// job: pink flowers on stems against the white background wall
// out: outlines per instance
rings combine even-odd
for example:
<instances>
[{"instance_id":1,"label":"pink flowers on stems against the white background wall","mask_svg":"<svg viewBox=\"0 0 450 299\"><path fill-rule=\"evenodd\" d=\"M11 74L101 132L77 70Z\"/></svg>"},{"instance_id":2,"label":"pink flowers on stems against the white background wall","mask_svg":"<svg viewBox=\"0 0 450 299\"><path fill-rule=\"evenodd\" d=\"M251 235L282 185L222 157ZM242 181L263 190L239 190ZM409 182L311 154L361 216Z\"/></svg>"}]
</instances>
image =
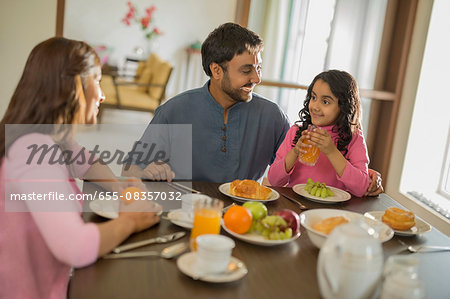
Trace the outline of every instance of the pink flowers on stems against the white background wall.
<instances>
[{"instance_id":1,"label":"pink flowers on stems against the white background wall","mask_svg":"<svg viewBox=\"0 0 450 299\"><path fill-rule=\"evenodd\" d=\"M153 14L156 7L151 5L145 9L144 14L140 14L133 3L127 2L127 6L128 11L121 22L126 26L131 26L133 23L139 25L146 40L147 54L149 54L154 50L156 38L163 34L154 24Z\"/></svg>"}]
</instances>

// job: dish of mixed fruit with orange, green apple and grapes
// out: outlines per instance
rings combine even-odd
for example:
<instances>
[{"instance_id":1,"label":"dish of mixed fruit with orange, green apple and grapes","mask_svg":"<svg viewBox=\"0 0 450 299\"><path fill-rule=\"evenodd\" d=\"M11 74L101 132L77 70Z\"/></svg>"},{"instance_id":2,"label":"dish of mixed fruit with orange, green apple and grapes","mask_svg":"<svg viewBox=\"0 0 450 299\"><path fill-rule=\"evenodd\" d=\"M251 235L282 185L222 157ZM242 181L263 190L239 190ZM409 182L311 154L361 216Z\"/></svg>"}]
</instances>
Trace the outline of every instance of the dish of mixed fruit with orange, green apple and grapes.
<instances>
[{"instance_id":1,"label":"dish of mixed fruit with orange, green apple and grapes","mask_svg":"<svg viewBox=\"0 0 450 299\"><path fill-rule=\"evenodd\" d=\"M291 210L268 215L261 202L246 202L229 208L222 222L223 229L244 242L262 246L289 243L300 236L300 219Z\"/></svg>"}]
</instances>

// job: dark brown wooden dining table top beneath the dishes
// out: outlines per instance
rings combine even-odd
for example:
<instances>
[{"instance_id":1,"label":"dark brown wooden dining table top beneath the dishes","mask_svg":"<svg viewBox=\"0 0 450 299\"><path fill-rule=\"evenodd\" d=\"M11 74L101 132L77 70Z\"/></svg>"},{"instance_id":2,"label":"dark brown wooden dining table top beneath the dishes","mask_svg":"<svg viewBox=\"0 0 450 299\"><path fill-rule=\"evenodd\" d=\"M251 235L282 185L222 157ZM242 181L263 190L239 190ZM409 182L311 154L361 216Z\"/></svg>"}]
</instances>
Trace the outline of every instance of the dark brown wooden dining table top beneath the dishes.
<instances>
[{"instance_id":1,"label":"dark brown wooden dining table top beneath the dishes","mask_svg":"<svg viewBox=\"0 0 450 299\"><path fill-rule=\"evenodd\" d=\"M242 204L222 193L219 183L194 181L189 184L202 194L223 200L225 206ZM347 201L329 204L311 201L289 187L271 188L280 196L265 204L269 214L281 209L290 209L301 215L306 210L320 208L361 214L384 211L388 207L404 208L385 193L376 197L352 196ZM84 182L84 193L96 190L101 188L92 182ZM189 242L189 229L167 220L163 217L166 213L164 211L159 224L133 234L124 244L178 231L185 231L186 235L174 244ZM89 209L83 212L83 219L94 223L108 220ZM233 238L223 228L220 233ZM321 298L317 278L319 248L310 241L303 226L300 233L300 237L292 242L277 246L261 246L233 238L235 248L232 256L245 264L248 273L238 280L222 283L194 280L183 274L177 267L177 257L99 258L95 263L73 271L68 298ZM171 243L152 244L135 251L161 251L169 245ZM450 251L410 253L406 250L407 245L450 246L450 238L431 227L423 234L396 234L382 243L384 261L397 254L414 255L419 260L419 278L424 283L426 298L450 298Z\"/></svg>"}]
</instances>

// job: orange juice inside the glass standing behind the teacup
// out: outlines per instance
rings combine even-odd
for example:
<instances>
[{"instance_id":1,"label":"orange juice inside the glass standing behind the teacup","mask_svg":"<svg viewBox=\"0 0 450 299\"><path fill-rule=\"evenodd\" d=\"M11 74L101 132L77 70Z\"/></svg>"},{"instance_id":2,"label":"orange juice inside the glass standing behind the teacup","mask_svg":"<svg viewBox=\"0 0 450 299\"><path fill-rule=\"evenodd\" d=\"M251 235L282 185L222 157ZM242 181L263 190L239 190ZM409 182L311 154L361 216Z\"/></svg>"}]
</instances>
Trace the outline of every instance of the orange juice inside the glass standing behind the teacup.
<instances>
[{"instance_id":1,"label":"orange juice inside the glass standing behind the teacup","mask_svg":"<svg viewBox=\"0 0 450 299\"><path fill-rule=\"evenodd\" d=\"M197 250L195 238L204 234L220 233L220 212L210 209L199 209L194 213L194 226L191 231L191 250Z\"/></svg>"}]
</instances>

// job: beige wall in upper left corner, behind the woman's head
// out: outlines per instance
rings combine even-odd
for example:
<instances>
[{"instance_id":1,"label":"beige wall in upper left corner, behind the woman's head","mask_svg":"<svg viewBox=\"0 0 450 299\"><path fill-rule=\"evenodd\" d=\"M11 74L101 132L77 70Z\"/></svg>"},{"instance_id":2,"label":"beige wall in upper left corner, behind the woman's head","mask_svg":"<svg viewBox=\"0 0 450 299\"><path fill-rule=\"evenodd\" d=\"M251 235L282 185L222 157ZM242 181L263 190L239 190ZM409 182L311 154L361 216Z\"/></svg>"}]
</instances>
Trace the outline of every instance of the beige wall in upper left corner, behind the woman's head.
<instances>
[{"instance_id":1,"label":"beige wall in upper left corner, behind the woman's head","mask_svg":"<svg viewBox=\"0 0 450 299\"><path fill-rule=\"evenodd\" d=\"M0 117L31 49L55 35L56 0L0 1Z\"/></svg>"}]
</instances>

